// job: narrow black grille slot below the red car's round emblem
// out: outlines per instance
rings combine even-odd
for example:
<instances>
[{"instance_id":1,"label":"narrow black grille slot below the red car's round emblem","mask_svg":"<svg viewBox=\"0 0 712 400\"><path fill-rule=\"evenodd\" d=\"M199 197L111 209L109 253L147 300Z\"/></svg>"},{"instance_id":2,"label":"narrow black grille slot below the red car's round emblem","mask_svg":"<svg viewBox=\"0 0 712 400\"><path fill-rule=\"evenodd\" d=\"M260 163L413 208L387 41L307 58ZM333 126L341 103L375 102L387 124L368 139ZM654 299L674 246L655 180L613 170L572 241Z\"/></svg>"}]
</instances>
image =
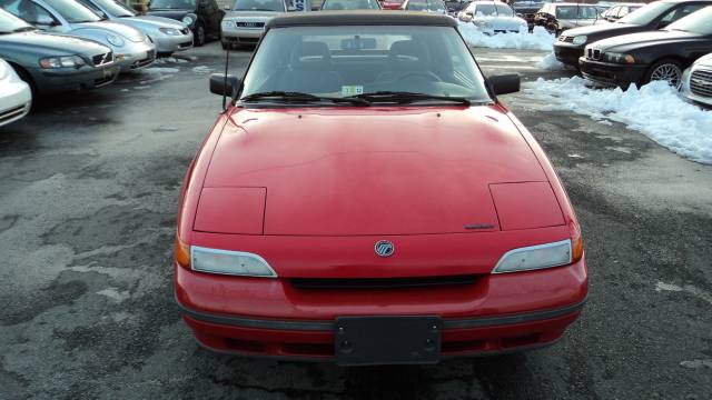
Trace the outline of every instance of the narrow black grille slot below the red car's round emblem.
<instances>
[{"instance_id":1,"label":"narrow black grille slot below the red car's round emblem","mask_svg":"<svg viewBox=\"0 0 712 400\"><path fill-rule=\"evenodd\" d=\"M296 278L291 279L291 286L303 290L383 290L474 284L477 278L476 274L413 278Z\"/></svg>"}]
</instances>

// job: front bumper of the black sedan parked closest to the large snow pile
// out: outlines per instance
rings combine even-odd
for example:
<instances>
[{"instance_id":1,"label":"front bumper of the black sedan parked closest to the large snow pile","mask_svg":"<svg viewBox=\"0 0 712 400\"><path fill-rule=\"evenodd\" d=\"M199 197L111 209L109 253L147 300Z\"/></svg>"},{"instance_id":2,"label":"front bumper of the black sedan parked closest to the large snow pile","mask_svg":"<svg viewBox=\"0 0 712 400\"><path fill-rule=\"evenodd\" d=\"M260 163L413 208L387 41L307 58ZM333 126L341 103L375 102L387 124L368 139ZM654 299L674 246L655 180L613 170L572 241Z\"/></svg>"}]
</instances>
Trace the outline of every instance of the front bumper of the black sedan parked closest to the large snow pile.
<instances>
[{"instance_id":1,"label":"front bumper of the black sedan parked closest to the large snow pile","mask_svg":"<svg viewBox=\"0 0 712 400\"><path fill-rule=\"evenodd\" d=\"M578 63L581 74L589 81L597 86L623 89L627 89L631 84L640 86L647 70L647 66L593 61L585 57L581 57Z\"/></svg>"}]
</instances>

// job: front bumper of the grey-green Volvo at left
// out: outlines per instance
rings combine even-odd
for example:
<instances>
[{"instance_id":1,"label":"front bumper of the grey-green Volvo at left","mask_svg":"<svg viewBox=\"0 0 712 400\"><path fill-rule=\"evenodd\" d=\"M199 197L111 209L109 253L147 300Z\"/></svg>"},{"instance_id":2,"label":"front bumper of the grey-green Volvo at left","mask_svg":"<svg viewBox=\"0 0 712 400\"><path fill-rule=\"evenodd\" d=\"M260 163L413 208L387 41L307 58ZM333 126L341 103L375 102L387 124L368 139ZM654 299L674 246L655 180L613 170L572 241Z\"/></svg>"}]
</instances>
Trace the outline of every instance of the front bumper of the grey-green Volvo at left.
<instances>
[{"instance_id":1,"label":"front bumper of the grey-green Volvo at left","mask_svg":"<svg viewBox=\"0 0 712 400\"><path fill-rule=\"evenodd\" d=\"M116 63L105 67L81 69L36 70L32 76L41 94L81 91L101 88L112 83L119 76Z\"/></svg>"}]
</instances>

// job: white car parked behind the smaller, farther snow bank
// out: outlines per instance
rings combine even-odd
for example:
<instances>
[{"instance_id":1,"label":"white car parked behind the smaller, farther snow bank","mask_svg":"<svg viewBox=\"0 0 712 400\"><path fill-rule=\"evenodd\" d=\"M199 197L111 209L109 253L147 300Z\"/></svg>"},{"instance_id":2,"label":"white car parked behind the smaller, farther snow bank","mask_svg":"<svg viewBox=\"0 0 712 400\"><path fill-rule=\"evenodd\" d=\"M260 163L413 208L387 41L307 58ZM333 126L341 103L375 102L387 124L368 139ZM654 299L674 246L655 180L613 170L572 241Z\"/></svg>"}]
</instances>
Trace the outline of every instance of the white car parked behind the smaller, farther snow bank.
<instances>
[{"instance_id":1,"label":"white car parked behind the smaller, farther snow bank","mask_svg":"<svg viewBox=\"0 0 712 400\"><path fill-rule=\"evenodd\" d=\"M473 1L457 18L463 22L474 23L478 30L488 34L528 31L526 20L500 1Z\"/></svg>"}]
</instances>

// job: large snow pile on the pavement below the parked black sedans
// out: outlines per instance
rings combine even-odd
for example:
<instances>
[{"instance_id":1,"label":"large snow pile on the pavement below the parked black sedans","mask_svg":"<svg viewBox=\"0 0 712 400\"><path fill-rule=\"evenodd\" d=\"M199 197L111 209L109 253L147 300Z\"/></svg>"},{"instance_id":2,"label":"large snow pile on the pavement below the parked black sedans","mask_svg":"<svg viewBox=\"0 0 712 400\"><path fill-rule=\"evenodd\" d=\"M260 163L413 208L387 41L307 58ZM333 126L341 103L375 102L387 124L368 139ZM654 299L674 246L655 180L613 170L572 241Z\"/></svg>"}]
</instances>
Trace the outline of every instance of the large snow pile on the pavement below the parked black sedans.
<instances>
[{"instance_id":1,"label":"large snow pile on the pavement below the parked black sedans","mask_svg":"<svg viewBox=\"0 0 712 400\"><path fill-rule=\"evenodd\" d=\"M617 121L693 161L712 164L712 111L685 102L666 82L641 89L592 89L580 77L525 83L544 110L568 109L599 121ZM607 122L607 121L606 121Z\"/></svg>"}]
</instances>

